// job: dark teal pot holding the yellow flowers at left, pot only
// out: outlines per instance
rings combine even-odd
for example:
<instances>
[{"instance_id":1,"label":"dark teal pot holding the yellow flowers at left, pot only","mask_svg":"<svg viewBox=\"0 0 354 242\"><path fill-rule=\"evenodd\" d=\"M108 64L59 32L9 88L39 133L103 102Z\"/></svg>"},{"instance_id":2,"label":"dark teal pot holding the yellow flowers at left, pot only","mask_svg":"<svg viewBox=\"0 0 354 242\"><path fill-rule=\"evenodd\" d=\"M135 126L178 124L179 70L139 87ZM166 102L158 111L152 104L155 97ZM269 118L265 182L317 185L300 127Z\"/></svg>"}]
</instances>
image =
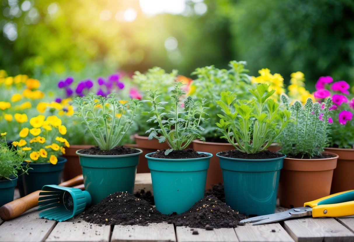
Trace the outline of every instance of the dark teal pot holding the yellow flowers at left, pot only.
<instances>
[{"instance_id":1,"label":"dark teal pot holding the yellow flowers at left, pot only","mask_svg":"<svg viewBox=\"0 0 354 242\"><path fill-rule=\"evenodd\" d=\"M65 162L67 162L66 158L58 157L58 162L55 165L51 163L29 163L29 167L33 168L33 170L28 170L28 175L23 174L18 177L20 196L41 190L45 185L58 185L61 183Z\"/></svg>"}]
</instances>

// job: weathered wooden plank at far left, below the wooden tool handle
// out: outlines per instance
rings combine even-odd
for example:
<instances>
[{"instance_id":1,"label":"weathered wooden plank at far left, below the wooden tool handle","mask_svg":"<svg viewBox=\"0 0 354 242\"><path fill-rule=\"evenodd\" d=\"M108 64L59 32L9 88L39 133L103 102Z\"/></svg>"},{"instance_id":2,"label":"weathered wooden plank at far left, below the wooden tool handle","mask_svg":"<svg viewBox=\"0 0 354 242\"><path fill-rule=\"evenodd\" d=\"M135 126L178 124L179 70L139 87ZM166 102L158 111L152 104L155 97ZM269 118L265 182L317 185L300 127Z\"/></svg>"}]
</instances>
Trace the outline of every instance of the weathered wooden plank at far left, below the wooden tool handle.
<instances>
[{"instance_id":1,"label":"weathered wooden plank at far left, below the wooden tool handle","mask_svg":"<svg viewBox=\"0 0 354 242\"><path fill-rule=\"evenodd\" d=\"M56 221L38 217L37 207L21 216L5 221L0 226L1 242L44 241L53 230Z\"/></svg>"}]
</instances>

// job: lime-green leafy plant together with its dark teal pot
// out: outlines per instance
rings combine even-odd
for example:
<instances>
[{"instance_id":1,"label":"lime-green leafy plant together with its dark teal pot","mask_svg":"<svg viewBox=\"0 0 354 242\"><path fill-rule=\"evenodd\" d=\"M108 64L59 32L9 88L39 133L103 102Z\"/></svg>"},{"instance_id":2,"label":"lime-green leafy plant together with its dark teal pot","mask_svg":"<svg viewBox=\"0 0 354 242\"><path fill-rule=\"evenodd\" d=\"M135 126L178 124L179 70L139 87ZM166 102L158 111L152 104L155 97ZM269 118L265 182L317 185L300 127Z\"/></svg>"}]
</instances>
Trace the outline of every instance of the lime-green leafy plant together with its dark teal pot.
<instances>
[{"instance_id":1,"label":"lime-green leafy plant together with its dark teal pot","mask_svg":"<svg viewBox=\"0 0 354 242\"><path fill-rule=\"evenodd\" d=\"M234 92L222 92L217 101L223 114L216 123L226 139L235 148L222 151L219 157L222 169L225 201L241 213L274 213L278 190L282 153L267 148L290 122L290 112L270 98L274 90L267 84L256 84L249 89L251 100L236 99Z\"/></svg>"}]
</instances>

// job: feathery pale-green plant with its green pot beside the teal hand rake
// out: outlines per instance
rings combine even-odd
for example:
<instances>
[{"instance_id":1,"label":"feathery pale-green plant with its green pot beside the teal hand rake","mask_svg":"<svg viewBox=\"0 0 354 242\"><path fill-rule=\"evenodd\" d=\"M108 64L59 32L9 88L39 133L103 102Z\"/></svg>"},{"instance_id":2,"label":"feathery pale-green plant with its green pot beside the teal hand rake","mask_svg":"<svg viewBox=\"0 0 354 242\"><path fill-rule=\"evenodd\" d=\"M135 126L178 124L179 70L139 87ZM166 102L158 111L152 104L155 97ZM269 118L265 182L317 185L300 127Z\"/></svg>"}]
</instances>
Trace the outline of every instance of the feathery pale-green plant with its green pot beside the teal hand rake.
<instances>
[{"instance_id":1,"label":"feathery pale-green plant with its green pot beside the teal hand rake","mask_svg":"<svg viewBox=\"0 0 354 242\"><path fill-rule=\"evenodd\" d=\"M138 100L118 100L90 93L74 98L78 117L98 146L76 151L79 156L85 190L97 204L115 192L132 193L142 150L121 145L132 126Z\"/></svg>"}]
</instances>

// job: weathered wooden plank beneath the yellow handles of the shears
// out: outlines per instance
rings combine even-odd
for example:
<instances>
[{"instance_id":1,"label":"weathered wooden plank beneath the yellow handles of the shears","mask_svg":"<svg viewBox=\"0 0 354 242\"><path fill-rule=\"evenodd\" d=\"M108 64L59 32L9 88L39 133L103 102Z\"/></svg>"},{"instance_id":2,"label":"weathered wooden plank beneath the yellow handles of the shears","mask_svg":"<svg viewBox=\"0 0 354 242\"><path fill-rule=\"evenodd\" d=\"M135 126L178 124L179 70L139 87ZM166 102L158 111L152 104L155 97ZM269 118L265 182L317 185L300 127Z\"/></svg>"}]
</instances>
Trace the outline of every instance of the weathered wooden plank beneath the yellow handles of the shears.
<instances>
[{"instance_id":1,"label":"weathered wooden plank beneath the yellow handles of the shears","mask_svg":"<svg viewBox=\"0 0 354 242\"><path fill-rule=\"evenodd\" d=\"M284 221L295 241L354 241L354 233L334 218L297 218Z\"/></svg>"}]
</instances>

